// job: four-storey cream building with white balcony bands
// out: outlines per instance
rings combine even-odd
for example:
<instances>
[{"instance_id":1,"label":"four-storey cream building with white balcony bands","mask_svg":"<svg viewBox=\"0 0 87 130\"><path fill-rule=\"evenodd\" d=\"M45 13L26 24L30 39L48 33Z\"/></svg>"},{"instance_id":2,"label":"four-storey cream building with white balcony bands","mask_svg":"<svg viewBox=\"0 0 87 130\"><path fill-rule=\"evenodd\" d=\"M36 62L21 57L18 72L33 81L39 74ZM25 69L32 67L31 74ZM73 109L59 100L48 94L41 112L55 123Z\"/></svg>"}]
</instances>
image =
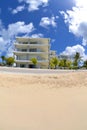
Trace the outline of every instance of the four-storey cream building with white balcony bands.
<instances>
[{"instance_id":1,"label":"four-storey cream building with white balcony bands","mask_svg":"<svg viewBox=\"0 0 87 130\"><path fill-rule=\"evenodd\" d=\"M52 53L50 53L50 39L17 37L14 46L17 67L33 68L34 65L31 59L36 58L37 68L49 68L50 54L52 56Z\"/></svg>"}]
</instances>

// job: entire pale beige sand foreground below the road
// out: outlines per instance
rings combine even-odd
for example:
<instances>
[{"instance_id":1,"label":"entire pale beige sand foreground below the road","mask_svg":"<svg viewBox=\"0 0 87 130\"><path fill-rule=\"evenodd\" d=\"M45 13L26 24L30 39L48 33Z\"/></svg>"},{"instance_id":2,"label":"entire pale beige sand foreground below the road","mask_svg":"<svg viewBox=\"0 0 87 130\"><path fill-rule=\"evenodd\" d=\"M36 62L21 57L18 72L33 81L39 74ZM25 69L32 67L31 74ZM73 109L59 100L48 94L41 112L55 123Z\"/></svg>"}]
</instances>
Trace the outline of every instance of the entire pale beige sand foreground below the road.
<instances>
[{"instance_id":1,"label":"entire pale beige sand foreground below the road","mask_svg":"<svg viewBox=\"0 0 87 130\"><path fill-rule=\"evenodd\" d=\"M0 74L0 130L87 130L87 72Z\"/></svg>"}]
</instances>

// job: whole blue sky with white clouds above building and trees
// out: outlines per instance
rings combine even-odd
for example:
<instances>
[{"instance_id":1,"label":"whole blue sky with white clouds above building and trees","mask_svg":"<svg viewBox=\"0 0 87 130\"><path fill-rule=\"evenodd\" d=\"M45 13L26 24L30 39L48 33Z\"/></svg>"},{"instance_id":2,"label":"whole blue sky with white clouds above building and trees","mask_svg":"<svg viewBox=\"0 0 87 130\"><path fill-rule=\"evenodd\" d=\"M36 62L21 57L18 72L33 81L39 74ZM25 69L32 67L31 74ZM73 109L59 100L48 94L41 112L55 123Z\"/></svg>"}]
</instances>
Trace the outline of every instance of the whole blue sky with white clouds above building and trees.
<instances>
[{"instance_id":1,"label":"whole blue sky with white clouds above building and trees","mask_svg":"<svg viewBox=\"0 0 87 130\"><path fill-rule=\"evenodd\" d=\"M15 38L50 38L57 54L87 59L86 0L1 0L0 56L12 56Z\"/></svg>"}]
</instances>

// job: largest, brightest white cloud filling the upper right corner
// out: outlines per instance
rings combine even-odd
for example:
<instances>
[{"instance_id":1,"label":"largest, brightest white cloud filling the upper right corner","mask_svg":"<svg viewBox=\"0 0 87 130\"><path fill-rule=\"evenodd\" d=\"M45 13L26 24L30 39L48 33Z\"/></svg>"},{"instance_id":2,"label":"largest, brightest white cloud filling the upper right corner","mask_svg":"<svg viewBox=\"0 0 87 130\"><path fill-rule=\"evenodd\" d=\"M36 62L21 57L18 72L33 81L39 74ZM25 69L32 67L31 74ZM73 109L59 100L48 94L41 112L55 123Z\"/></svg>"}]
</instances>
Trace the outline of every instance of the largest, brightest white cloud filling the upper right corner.
<instances>
[{"instance_id":1,"label":"largest, brightest white cloud filling the upper right corner","mask_svg":"<svg viewBox=\"0 0 87 130\"><path fill-rule=\"evenodd\" d=\"M83 45L87 45L87 1L75 0L75 7L66 12L61 11L69 31L78 37L82 37Z\"/></svg>"}]
</instances>

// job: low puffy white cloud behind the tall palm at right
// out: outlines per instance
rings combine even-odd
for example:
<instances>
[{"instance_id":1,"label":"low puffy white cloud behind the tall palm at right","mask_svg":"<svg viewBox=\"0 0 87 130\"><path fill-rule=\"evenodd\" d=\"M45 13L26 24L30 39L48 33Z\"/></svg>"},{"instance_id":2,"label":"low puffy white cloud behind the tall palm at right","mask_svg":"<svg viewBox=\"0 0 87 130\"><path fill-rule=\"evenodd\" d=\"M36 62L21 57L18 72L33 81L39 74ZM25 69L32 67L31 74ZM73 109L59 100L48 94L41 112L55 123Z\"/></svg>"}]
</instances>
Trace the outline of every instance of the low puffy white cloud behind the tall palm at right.
<instances>
[{"instance_id":1,"label":"low puffy white cloud behind the tall palm at right","mask_svg":"<svg viewBox=\"0 0 87 130\"><path fill-rule=\"evenodd\" d=\"M79 52L82 59L85 60L87 58L87 55L85 54L85 49L83 46L77 44L75 46L68 46L65 48L65 51L63 51L60 55L67 55L67 56L74 56L76 52Z\"/></svg>"}]
</instances>

